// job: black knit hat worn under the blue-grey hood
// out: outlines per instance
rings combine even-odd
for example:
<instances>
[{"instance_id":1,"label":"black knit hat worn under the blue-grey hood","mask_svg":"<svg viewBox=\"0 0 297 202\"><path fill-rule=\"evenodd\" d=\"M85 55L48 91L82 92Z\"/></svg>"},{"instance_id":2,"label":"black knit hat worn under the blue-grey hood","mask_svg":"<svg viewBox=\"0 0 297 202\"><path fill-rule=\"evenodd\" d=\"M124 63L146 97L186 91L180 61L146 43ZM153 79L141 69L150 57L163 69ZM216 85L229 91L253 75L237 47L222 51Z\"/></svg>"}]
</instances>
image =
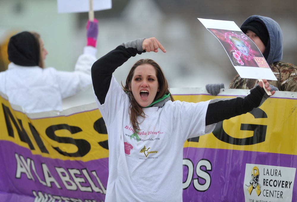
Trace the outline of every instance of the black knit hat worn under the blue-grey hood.
<instances>
[{"instance_id":1,"label":"black knit hat worn under the blue-grey hood","mask_svg":"<svg viewBox=\"0 0 297 202\"><path fill-rule=\"evenodd\" d=\"M263 23L259 21L252 21L248 23L246 26L242 26L240 29L244 34L247 33L247 30L253 31L255 34L257 34L257 36L263 42L265 47L267 46L267 43L269 40L269 34L266 26Z\"/></svg>"}]
</instances>

